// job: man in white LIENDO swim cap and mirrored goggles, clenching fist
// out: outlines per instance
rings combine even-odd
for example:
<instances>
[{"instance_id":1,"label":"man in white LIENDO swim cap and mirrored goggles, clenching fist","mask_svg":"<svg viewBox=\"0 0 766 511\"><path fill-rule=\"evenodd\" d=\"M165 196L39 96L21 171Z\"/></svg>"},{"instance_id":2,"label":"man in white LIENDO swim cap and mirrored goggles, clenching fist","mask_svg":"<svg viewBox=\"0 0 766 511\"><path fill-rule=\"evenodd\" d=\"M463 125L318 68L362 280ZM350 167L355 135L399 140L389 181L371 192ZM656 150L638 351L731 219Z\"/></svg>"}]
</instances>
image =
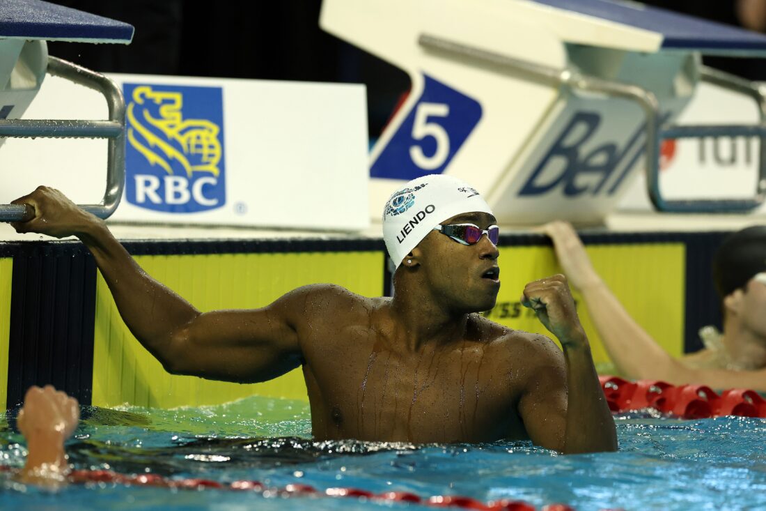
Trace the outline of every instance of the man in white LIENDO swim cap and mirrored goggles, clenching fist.
<instances>
[{"instance_id":1,"label":"man in white LIENDO swim cap and mirrored goggles, clenching fist","mask_svg":"<svg viewBox=\"0 0 766 511\"><path fill-rule=\"evenodd\" d=\"M316 439L617 449L563 275L522 292L563 351L479 314L500 286L499 230L480 193L453 177L413 180L385 206L393 298L317 284L249 310L198 311L57 190L13 203L34 207L34 219L12 224L18 232L74 235L90 249L126 325L166 371L251 383L301 367Z\"/></svg>"}]
</instances>

